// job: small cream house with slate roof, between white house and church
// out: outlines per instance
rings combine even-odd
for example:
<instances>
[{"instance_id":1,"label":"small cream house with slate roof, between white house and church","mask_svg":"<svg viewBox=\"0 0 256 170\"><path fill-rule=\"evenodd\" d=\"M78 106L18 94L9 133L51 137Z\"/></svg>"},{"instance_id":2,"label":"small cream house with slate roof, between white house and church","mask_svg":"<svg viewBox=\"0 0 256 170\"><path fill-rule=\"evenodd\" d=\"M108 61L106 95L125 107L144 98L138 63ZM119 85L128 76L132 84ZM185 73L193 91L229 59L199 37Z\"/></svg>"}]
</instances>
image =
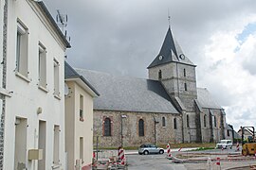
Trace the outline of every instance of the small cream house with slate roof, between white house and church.
<instances>
[{"instance_id":1,"label":"small cream house with slate roof, between white house and church","mask_svg":"<svg viewBox=\"0 0 256 170\"><path fill-rule=\"evenodd\" d=\"M99 93L65 62L65 150L67 169L91 169L93 97Z\"/></svg>"}]
</instances>

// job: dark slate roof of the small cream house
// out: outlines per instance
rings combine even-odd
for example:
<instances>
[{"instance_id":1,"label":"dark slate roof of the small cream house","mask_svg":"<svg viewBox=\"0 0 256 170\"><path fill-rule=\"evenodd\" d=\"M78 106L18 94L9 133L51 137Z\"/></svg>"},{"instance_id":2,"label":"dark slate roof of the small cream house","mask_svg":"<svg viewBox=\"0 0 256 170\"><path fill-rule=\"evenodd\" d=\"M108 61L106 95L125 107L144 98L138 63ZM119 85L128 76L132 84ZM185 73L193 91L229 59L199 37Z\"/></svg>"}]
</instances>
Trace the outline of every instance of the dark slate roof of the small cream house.
<instances>
[{"instance_id":1,"label":"dark slate roof of the small cream house","mask_svg":"<svg viewBox=\"0 0 256 170\"><path fill-rule=\"evenodd\" d=\"M66 61L64 61L64 79L80 78L94 93L100 95L96 89L81 75L79 75Z\"/></svg>"}]
</instances>

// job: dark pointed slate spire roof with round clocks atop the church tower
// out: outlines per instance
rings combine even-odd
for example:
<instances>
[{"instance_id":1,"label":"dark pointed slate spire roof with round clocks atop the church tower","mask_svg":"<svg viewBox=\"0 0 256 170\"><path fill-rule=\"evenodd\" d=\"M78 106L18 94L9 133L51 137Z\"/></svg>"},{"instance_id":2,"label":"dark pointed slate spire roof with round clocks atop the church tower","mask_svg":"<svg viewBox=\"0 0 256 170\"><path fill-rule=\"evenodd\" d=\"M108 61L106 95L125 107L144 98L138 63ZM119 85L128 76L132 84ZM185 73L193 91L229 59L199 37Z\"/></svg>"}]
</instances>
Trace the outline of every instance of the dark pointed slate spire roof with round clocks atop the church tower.
<instances>
[{"instance_id":1,"label":"dark pointed slate spire roof with round clocks atop the church tower","mask_svg":"<svg viewBox=\"0 0 256 170\"><path fill-rule=\"evenodd\" d=\"M181 47L179 46L178 42L175 41L171 28L169 27L159 54L148 66L148 68L155 67L157 65L161 65L169 62L179 62L179 63L195 66L189 58L187 58L184 55L185 58L182 59L181 55L184 55L184 53ZM159 59L160 56L162 57L162 59Z\"/></svg>"}]
</instances>

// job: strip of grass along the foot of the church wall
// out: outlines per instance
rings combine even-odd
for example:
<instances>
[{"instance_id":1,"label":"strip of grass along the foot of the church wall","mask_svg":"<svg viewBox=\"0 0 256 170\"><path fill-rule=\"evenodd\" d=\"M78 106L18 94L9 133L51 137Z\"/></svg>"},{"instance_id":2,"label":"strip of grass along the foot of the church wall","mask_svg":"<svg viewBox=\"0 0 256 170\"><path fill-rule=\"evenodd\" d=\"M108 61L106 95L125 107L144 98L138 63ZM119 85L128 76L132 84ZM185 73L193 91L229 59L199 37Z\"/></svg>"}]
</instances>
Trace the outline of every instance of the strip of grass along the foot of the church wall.
<instances>
[{"instance_id":1,"label":"strip of grass along the foot of the church wall","mask_svg":"<svg viewBox=\"0 0 256 170\"><path fill-rule=\"evenodd\" d=\"M166 144L156 144L159 147L163 147L166 148ZM185 147L198 147L199 150L207 150L207 149L213 149L215 147L214 143L192 143L192 144L188 144L188 143L184 143L184 144L170 144L171 145L171 149L172 148L185 148ZM137 147L139 145L134 145L134 146L124 146L125 150L137 150ZM96 147L94 147L94 149L96 149ZM111 149L111 150L116 150L118 149L117 147L100 147L99 149Z\"/></svg>"}]
</instances>

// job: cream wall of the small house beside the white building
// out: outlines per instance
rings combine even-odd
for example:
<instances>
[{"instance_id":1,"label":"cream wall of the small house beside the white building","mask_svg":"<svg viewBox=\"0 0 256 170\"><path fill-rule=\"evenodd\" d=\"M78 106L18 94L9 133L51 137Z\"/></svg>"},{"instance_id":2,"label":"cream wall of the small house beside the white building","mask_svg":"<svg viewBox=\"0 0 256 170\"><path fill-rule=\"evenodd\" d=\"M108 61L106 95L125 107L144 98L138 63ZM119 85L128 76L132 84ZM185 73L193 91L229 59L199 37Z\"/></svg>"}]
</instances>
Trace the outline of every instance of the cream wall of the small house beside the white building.
<instances>
[{"instance_id":1,"label":"cream wall of the small house beside the white building","mask_svg":"<svg viewBox=\"0 0 256 170\"><path fill-rule=\"evenodd\" d=\"M80 159L80 137L83 138L82 166L90 165L93 155L93 96L75 81L66 81L69 94L65 97L66 150L68 169ZM83 96L83 118L80 121L80 95ZM69 139L67 139L69 138Z\"/></svg>"}]
</instances>

